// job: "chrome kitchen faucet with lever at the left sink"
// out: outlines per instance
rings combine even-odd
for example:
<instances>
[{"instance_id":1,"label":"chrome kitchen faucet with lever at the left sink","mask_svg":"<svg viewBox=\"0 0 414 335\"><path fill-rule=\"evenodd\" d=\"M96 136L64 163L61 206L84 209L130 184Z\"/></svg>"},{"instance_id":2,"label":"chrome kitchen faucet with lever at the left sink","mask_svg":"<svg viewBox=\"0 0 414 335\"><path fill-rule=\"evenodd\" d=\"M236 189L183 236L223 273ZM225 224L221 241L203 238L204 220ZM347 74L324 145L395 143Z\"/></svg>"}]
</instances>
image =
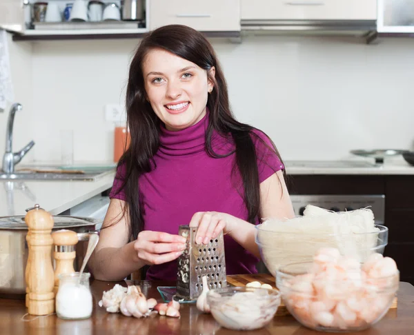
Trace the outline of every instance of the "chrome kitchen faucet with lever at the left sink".
<instances>
[{"instance_id":1,"label":"chrome kitchen faucet with lever at the left sink","mask_svg":"<svg viewBox=\"0 0 414 335\"><path fill-rule=\"evenodd\" d=\"M10 114L8 115L6 129L6 152L3 155L2 167L3 172L6 174L12 174L14 172L14 165L19 163L34 145L34 141L30 141L28 145L26 145L26 147L19 152L12 151L14 114L22 108L23 106L20 103L14 103L12 108L10 108Z\"/></svg>"}]
</instances>

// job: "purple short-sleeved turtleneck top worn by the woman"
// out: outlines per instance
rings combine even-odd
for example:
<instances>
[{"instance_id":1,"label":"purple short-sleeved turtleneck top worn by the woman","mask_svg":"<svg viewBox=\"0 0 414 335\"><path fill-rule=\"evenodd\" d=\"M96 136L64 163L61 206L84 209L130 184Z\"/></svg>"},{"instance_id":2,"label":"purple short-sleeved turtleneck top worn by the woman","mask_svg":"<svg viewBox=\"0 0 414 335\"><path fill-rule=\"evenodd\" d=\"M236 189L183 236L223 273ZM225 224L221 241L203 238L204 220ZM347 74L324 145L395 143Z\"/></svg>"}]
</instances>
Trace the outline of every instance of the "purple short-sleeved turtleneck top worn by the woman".
<instances>
[{"instance_id":1,"label":"purple short-sleeved turtleneck top worn by the woman","mask_svg":"<svg viewBox=\"0 0 414 335\"><path fill-rule=\"evenodd\" d=\"M197 124L172 132L161 125L160 147L154 156L157 167L139 177L139 204L144 229L178 234L179 225L190 223L195 212L224 212L247 221L248 210L242 195L239 173L233 173L235 154L224 158L208 156L205 150L205 132L208 113ZM267 136L255 130L272 148ZM252 136L257 152L259 182L284 168L277 154ZM228 139L213 134L213 150L226 154L234 145ZM237 171L237 170L236 170ZM115 176L110 198L126 201L122 185L124 165ZM258 224L259 220L255 224ZM257 257L246 251L230 236L224 236L227 274L256 273ZM177 280L177 261L152 265L147 279Z\"/></svg>"}]
</instances>

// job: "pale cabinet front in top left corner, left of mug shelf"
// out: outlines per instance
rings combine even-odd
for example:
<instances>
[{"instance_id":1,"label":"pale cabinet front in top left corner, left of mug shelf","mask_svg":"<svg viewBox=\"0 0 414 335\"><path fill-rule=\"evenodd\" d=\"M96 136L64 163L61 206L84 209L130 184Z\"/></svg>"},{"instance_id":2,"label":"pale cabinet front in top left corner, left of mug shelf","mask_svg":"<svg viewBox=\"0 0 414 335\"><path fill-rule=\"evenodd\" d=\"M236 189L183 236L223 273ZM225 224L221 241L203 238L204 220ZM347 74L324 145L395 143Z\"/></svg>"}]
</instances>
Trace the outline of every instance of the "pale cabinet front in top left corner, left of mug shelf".
<instances>
[{"instance_id":1,"label":"pale cabinet front in top left corner, left of mug shelf","mask_svg":"<svg viewBox=\"0 0 414 335\"><path fill-rule=\"evenodd\" d=\"M24 29L23 0L0 0L0 27L14 31Z\"/></svg>"}]
</instances>

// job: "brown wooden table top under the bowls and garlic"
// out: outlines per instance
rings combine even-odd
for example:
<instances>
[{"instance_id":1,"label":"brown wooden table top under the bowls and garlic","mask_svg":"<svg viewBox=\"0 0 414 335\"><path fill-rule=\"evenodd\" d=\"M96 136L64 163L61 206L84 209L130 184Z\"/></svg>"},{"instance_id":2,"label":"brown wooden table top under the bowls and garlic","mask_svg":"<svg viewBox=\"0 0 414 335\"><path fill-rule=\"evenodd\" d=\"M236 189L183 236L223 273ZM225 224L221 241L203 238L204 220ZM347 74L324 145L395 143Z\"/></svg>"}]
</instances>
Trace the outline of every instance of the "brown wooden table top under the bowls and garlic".
<instances>
[{"instance_id":1,"label":"brown wooden table top under the bowls and garlic","mask_svg":"<svg viewBox=\"0 0 414 335\"><path fill-rule=\"evenodd\" d=\"M121 283L126 285L125 282ZM134 283L137 284L137 283ZM310 335L322 334L302 327L292 316L275 316L272 323L255 331L236 332L219 327L213 316L201 314L195 304L181 305L181 318L155 316L153 318L133 318L122 314L107 313L98 306L102 292L110 290L115 283L92 281L94 298L92 317L81 321L65 321L52 316L25 316L28 322L21 320L27 310L23 300L0 299L0 335L161 335L161 334L277 334ZM157 286L174 286L168 282L142 282L147 297L162 302ZM351 333L347 333L351 334ZM398 308L391 309L386 316L371 329L352 334L360 335L413 335L414 334L414 287L409 283L400 283Z\"/></svg>"}]
</instances>

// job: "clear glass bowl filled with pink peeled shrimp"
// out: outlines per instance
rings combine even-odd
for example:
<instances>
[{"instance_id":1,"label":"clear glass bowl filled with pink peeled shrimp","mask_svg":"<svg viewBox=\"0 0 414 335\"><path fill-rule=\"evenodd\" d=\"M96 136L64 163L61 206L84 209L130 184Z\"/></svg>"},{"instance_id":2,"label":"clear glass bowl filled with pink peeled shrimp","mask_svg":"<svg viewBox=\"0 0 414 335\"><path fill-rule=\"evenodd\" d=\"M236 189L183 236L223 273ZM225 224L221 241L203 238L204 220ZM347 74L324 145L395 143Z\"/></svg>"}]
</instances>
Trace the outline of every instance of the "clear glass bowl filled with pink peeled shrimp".
<instances>
[{"instance_id":1,"label":"clear glass bowl filled with pink peeled shrimp","mask_svg":"<svg viewBox=\"0 0 414 335\"><path fill-rule=\"evenodd\" d=\"M393 303L400 272L356 281L321 280L310 273L313 263L293 263L277 270L278 288L286 308L305 327L322 332L357 332L380 321ZM355 274L355 276L353 276Z\"/></svg>"}]
</instances>

